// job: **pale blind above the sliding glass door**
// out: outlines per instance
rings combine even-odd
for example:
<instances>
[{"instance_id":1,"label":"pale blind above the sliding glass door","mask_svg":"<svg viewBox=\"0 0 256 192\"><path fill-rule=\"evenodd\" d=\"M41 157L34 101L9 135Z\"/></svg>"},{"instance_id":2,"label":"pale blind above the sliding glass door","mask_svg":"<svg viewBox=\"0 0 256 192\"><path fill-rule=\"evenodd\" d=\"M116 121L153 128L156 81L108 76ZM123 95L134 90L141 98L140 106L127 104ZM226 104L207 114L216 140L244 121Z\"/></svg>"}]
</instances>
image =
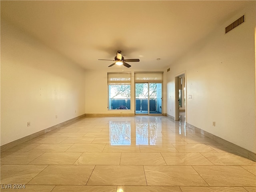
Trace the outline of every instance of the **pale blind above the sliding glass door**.
<instances>
[{"instance_id":1,"label":"pale blind above the sliding glass door","mask_svg":"<svg viewBox=\"0 0 256 192\"><path fill-rule=\"evenodd\" d=\"M163 82L163 72L134 73L135 82Z\"/></svg>"}]
</instances>

